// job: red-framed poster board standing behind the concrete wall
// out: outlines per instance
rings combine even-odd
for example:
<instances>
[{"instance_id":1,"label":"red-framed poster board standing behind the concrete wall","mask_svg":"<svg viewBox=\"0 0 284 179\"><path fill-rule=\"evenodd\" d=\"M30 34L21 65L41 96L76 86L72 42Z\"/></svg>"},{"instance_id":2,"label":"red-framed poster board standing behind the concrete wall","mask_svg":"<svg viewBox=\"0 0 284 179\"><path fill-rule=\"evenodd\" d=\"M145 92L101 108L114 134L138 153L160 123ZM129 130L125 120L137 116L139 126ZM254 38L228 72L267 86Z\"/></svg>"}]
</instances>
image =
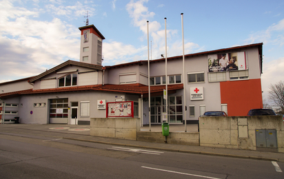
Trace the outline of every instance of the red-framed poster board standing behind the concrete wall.
<instances>
[{"instance_id":1,"label":"red-framed poster board standing behind the concrete wall","mask_svg":"<svg viewBox=\"0 0 284 179\"><path fill-rule=\"evenodd\" d=\"M123 101L123 102L110 102L107 103L107 118L134 118L134 103L133 101Z\"/></svg>"}]
</instances>

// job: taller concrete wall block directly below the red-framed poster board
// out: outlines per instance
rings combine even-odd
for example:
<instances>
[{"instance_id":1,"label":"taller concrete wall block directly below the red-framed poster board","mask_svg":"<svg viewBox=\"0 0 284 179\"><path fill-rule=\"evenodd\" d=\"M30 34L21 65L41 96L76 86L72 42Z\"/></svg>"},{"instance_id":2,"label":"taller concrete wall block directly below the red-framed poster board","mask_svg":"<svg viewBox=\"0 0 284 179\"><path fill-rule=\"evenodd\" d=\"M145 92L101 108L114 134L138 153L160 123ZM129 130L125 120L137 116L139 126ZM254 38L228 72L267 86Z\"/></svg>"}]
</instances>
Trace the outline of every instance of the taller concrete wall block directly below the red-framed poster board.
<instances>
[{"instance_id":1,"label":"taller concrete wall block directly below the red-framed poster board","mask_svg":"<svg viewBox=\"0 0 284 179\"><path fill-rule=\"evenodd\" d=\"M90 136L136 140L140 118L91 118Z\"/></svg>"}]
</instances>

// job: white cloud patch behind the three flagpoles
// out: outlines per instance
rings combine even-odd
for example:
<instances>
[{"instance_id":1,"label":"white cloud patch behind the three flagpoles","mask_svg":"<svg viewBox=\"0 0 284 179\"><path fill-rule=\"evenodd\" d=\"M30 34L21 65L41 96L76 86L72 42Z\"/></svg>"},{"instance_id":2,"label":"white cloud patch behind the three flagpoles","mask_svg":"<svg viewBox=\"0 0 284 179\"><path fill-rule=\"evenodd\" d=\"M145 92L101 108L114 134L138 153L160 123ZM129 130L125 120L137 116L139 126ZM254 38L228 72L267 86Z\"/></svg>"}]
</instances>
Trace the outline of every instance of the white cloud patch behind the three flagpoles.
<instances>
[{"instance_id":1,"label":"white cloud patch behind the three flagpoles","mask_svg":"<svg viewBox=\"0 0 284 179\"><path fill-rule=\"evenodd\" d=\"M148 0L132 0L126 5L126 10L128 10L128 14L130 15L130 18L132 18L134 27L139 27L139 29L143 32L143 37L140 38L141 41L143 41L143 39L147 39L148 28L146 21L150 21L155 15L154 12L150 12L148 8L144 6L144 3L148 3ZM163 5L160 5L160 7L163 7ZM158 21L149 22L150 41L152 41L153 52L152 56L154 59L159 59L161 58L161 54L165 54L165 30L161 30L161 28L162 25ZM179 36L178 34L179 30L167 28L168 56L182 54L182 39L177 38ZM200 47L195 43L188 42L185 44L185 53L194 52L197 49L200 50Z\"/></svg>"}]
</instances>

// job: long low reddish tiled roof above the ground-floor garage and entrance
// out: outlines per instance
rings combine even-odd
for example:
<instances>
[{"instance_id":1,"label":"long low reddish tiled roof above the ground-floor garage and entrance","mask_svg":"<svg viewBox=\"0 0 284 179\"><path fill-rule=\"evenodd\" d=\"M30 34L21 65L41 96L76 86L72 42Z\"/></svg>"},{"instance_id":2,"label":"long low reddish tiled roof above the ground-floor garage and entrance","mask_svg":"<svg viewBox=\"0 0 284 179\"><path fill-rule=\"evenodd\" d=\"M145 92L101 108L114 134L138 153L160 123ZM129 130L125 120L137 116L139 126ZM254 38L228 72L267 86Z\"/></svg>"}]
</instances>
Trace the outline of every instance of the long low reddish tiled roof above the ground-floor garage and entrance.
<instances>
[{"instance_id":1,"label":"long low reddish tiled roof above the ground-floor garage and entrance","mask_svg":"<svg viewBox=\"0 0 284 179\"><path fill-rule=\"evenodd\" d=\"M150 86L150 92L163 92L165 85ZM183 84L168 85L168 91L183 89ZM75 87L57 87L52 89L27 89L18 92L0 94L0 98L11 98L23 94L47 94L55 92L83 92L83 91L105 91L105 92L124 92L128 94L148 94L146 85L85 85Z\"/></svg>"}]
</instances>

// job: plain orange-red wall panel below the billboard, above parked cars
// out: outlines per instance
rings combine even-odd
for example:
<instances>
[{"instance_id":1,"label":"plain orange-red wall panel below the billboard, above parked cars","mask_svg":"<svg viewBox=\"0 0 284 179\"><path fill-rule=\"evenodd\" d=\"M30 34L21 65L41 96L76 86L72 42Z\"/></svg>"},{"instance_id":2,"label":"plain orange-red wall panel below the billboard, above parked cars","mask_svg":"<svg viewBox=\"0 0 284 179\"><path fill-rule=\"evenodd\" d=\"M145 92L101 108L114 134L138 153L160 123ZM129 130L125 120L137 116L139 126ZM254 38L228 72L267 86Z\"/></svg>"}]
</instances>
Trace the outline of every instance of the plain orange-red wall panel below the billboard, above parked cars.
<instances>
[{"instance_id":1,"label":"plain orange-red wall panel below the billboard, above parked cars","mask_svg":"<svg viewBox=\"0 0 284 179\"><path fill-rule=\"evenodd\" d=\"M228 116L246 116L250 109L263 107L260 78L221 82L220 89Z\"/></svg>"}]
</instances>

